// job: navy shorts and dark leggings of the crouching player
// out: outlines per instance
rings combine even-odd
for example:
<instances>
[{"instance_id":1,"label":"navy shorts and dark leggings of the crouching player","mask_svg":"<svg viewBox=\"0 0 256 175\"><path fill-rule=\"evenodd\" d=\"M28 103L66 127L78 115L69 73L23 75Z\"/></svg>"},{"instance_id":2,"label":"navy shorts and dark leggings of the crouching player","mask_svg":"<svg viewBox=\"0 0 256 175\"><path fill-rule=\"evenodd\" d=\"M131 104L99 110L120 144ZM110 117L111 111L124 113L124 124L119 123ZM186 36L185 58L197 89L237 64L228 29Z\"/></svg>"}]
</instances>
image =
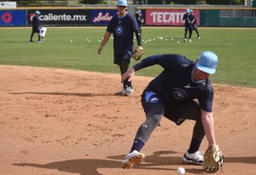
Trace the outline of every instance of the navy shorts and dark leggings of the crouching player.
<instances>
[{"instance_id":1,"label":"navy shorts and dark leggings of the crouching player","mask_svg":"<svg viewBox=\"0 0 256 175\"><path fill-rule=\"evenodd\" d=\"M140 139L144 143L148 141L154 129L160 125L163 116L177 125L181 125L186 119L194 120L192 139L203 140L206 135L201 122L200 106L194 100L180 102L178 105L167 105L162 96L145 90L142 95L142 107L147 119L138 129L135 139Z\"/></svg>"}]
</instances>

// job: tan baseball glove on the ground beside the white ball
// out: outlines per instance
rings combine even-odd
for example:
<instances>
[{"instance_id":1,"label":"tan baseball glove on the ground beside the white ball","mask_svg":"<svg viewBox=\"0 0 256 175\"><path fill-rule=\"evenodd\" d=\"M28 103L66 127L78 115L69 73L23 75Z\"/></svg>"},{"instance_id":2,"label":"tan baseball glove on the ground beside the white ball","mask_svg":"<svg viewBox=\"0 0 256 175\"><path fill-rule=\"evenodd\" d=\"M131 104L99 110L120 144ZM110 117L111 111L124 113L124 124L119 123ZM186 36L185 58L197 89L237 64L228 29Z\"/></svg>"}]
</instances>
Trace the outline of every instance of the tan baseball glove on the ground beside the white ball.
<instances>
[{"instance_id":1,"label":"tan baseball glove on the ground beside the white ball","mask_svg":"<svg viewBox=\"0 0 256 175\"><path fill-rule=\"evenodd\" d=\"M224 156L218 145L214 145L206 150L203 156L203 170L218 171L224 165Z\"/></svg>"}]
</instances>

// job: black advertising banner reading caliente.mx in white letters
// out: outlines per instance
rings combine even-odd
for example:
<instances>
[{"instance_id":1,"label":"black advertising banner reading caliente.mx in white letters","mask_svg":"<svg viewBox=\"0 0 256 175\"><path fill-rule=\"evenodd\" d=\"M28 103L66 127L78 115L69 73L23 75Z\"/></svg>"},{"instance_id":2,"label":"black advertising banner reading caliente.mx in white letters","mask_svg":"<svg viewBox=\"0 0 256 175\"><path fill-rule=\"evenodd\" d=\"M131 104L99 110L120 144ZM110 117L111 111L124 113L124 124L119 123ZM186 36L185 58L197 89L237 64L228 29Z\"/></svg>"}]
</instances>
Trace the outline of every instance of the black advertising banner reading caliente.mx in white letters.
<instances>
[{"instance_id":1,"label":"black advertising banner reading caliente.mx in white letters","mask_svg":"<svg viewBox=\"0 0 256 175\"><path fill-rule=\"evenodd\" d=\"M27 10L27 24L32 24L36 10ZM40 10L42 25L85 25L90 24L89 10Z\"/></svg>"}]
</instances>

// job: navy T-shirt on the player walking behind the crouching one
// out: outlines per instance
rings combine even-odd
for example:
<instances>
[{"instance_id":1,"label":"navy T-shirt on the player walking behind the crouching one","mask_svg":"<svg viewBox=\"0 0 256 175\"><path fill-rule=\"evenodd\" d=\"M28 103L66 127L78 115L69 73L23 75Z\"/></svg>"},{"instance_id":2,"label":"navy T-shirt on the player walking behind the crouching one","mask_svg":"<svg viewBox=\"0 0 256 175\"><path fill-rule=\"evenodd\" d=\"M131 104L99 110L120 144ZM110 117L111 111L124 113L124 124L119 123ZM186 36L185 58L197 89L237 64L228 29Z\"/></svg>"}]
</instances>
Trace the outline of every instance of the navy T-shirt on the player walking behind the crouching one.
<instances>
[{"instance_id":1,"label":"navy T-shirt on the player walking behind the crouching one","mask_svg":"<svg viewBox=\"0 0 256 175\"><path fill-rule=\"evenodd\" d=\"M114 55L122 55L134 49L134 32L140 30L136 19L127 13L120 18L117 14L108 24L107 32L114 36Z\"/></svg>"}]
</instances>

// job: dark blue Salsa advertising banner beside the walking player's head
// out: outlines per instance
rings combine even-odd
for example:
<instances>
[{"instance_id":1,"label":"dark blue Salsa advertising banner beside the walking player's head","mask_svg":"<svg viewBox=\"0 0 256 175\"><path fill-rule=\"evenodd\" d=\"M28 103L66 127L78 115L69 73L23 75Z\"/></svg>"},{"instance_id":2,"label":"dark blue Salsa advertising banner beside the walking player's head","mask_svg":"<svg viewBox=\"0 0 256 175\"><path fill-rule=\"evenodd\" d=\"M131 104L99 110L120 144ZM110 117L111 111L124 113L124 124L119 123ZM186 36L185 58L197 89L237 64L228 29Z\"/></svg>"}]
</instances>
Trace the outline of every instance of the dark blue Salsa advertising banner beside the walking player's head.
<instances>
[{"instance_id":1,"label":"dark blue Salsa advertising banner beside the walking player's head","mask_svg":"<svg viewBox=\"0 0 256 175\"><path fill-rule=\"evenodd\" d=\"M108 25L108 22L116 15L117 10L91 10L91 24Z\"/></svg>"}]
</instances>

